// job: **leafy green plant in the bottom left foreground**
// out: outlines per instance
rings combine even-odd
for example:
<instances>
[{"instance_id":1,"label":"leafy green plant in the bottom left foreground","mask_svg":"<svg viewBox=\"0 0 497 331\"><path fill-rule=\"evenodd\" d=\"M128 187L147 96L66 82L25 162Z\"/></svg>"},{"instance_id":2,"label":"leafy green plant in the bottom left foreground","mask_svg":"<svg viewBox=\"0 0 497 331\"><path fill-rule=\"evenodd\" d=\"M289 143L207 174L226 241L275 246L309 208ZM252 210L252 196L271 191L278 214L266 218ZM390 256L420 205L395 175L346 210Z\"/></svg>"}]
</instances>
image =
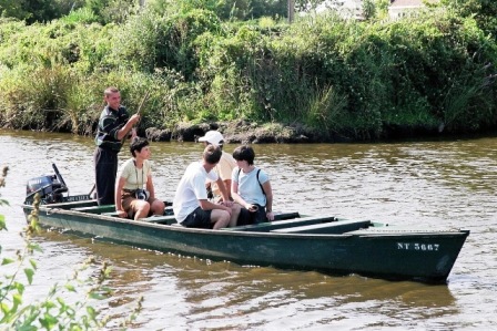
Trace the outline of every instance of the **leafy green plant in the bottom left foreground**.
<instances>
[{"instance_id":1,"label":"leafy green plant in the bottom left foreground","mask_svg":"<svg viewBox=\"0 0 497 331\"><path fill-rule=\"evenodd\" d=\"M0 177L0 187L4 186L4 177L8 168L3 169ZM34 252L40 252L39 245L31 241L31 237L39 231L38 215L40 197L34 198L33 210L29 216L28 226L21 236L26 242L23 249L16 252L16 258L1 257L2 266L10 266L11 273L1 275L0 279L0 330L98 330L103 329L111 318L101 317L98 309L90 306L92 300L102 300L112 296L112 291L105 286L111 267L103 262L97 273L82 279L83 273L97 261L89 257L79 266L72 277L64 285L53 285L48 296L37 302L23 302L23 294L28 286L32 285L37 261L32 258ZM0 199L0 205L8 205ZM0 215L0 230L7 230L4 216ZM0 254L2 252L0 246ZM6 267L2 268L6 270ZM27 282L19 280L26 276ZM75 301L67 302L64 297L77 297ZM125 329L133 322L141 311L143 299L138 300L135 309L119 324Z\"/></svg>"}]
</instances>

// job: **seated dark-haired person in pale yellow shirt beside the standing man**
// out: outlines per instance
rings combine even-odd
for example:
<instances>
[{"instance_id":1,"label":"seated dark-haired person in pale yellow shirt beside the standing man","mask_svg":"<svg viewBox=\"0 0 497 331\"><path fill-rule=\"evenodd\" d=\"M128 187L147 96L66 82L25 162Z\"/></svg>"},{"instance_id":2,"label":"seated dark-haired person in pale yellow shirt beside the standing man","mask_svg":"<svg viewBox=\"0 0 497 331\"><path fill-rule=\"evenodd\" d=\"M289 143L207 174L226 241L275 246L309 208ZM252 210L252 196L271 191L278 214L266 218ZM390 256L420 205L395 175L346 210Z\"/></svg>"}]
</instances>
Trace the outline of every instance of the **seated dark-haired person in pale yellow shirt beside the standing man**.
<instances>
[{"instance_id":1,"label":"seated dark-haired person in pale yellow shirt beside the standing man","mask_svg":"<svg viewBox=\"0 0 497 331\"><path fill-rule=\"evenodd\" d=\"M135 137L130 144L132 158L124 162L115 183L115 211L119 217L140 219L164 215L164 203L155 198L150 166L150 147L145 138ZM146 189L143 189L145 186Z\"/></svg>"}]
</instances>

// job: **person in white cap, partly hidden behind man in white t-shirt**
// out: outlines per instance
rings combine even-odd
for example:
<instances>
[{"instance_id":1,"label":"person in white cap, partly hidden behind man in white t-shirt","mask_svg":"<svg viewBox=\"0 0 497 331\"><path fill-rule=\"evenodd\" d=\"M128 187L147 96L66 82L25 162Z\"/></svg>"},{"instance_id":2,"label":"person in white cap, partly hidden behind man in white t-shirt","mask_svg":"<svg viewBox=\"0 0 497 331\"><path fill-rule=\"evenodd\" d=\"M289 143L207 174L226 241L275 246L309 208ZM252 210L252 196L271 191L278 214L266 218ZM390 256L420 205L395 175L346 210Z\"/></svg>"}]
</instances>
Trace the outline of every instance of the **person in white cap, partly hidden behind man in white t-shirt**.
<instances>
[{"instance_id":1,"label":"person in white cap, partly hidden behind man in white t-shirt","mask_svg":"<svg viewBox=\"0 0 497 331\"><path fill-rule=\"evenodd\" d=\"M205 143L205 145L215 145L220 146L221 151L223 149L224 137L221 132L211 130L205 133L203 137L199 138L199 142ZM224 188L226 193L231 197L231 174L236 166L236 162L229 153L223 151L220 163L215 166L214 170L221 180L224 184ZM207 186L211 186L212 195L214 201L220 201L222 199L222 192L217 186L216 182L209 182Z\"/></svg>"}]
</instances>

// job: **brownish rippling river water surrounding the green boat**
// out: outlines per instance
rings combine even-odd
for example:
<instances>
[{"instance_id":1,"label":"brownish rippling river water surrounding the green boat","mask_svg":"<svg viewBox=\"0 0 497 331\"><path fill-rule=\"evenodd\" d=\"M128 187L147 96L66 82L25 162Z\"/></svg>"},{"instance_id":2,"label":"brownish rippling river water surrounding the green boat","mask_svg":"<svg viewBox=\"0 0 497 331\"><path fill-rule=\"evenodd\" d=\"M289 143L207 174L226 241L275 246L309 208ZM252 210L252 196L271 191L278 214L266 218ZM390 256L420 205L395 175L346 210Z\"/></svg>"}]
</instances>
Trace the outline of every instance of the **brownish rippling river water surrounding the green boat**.
<instances>
[{"instance_id":1,"label":"brownish rippling river water surrounding the green boat","mask_svg":"<svg viewBox=\"0 0 497 331\"><path fill-rule=\"evenodd\" d=\"M202 146L151 147L155 190L171 200ZM94 256L113 266L114 294L97 304L104 314L125 318L144 298L131 330L497 330L497 138L254 148L275 210L469 229L447 283L237 266L44 231L24 300L44 298ZM53 162L71 194L89 193L93 149L91 137L0 131L0 165L10 167L0 193L11 204L0 207L9 228L0 232L2 257L22 248L26 182L51 174ZM129 157L125 148L120 157Z\"/></svg>"}]
</instances>

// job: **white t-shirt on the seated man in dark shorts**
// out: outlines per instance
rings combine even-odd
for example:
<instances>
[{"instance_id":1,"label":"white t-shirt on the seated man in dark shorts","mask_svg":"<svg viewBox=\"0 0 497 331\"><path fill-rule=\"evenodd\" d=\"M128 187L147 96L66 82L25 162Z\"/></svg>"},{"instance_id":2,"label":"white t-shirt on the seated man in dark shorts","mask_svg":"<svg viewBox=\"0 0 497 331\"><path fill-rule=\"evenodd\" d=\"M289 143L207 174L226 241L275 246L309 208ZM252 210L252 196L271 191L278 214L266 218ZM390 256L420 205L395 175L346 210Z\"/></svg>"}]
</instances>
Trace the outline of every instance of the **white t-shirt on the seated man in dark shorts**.
<instances>
[{"instance_id":1,"label":"white t-shirt on the seated man in dark shorts","mask_svg":"<svg viewBox=\"0 0 497 331\"><path fill-rule=\"evenodd\" d=\"M202 162L191 163L180 184L173 199L173 211L179 223L182 223L186 216L200 207L200 199L207 199L205 180L217 180L217 174L214 170L207 173Z\"/></svg>"}]
</instances>

